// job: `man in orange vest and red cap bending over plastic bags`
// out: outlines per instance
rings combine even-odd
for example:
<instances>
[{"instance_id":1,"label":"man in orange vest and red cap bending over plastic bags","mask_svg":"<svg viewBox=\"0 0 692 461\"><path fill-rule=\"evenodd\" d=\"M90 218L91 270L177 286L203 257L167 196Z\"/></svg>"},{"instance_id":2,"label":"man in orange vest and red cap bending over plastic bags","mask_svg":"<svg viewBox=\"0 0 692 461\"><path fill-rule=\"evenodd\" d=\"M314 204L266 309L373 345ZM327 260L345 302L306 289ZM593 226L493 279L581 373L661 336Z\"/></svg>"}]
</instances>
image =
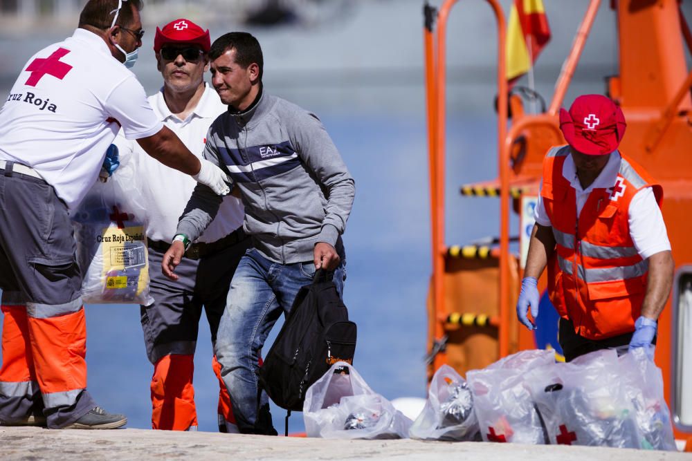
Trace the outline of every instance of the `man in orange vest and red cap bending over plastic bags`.
<instances>
[{"instance_id":1,"label":"man in orange vest and red cap bending over plastic bags","mask_svg":"<svg viewBox=\"0 0 692 461\"><path fill-rule=\"evenodd\" d=\"M663 189L617 147L622 111L608 97L582 95L560 111L569 145L543 162L519 321L538 315L537 279L560 314L565 359L604 348L645 348L653 359L657 319L673 282L673 258L660 205Z\"/></svg>"}]
</instances>

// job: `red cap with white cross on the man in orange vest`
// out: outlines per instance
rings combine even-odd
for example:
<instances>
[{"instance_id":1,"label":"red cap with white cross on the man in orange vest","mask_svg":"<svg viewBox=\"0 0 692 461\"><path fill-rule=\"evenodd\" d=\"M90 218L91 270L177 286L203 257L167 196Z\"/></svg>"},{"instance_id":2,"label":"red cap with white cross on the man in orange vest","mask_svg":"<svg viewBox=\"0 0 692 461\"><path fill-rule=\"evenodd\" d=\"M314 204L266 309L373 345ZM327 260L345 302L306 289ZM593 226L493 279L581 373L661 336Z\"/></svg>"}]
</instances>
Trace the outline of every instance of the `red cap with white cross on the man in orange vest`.
<instances>
[{"instance_id":1,"label":"red cap with white cross on the man in orange vest","mask_svg":"<svg viewBox=\"0 0 692 461\"><path fill-rule=\"evenodd\" d=\"M570 111L560 109L560 129L574 150L590 156L611 153L625 134L625 117L610 98L581 95Z\"/></svg>"}]
</instances>

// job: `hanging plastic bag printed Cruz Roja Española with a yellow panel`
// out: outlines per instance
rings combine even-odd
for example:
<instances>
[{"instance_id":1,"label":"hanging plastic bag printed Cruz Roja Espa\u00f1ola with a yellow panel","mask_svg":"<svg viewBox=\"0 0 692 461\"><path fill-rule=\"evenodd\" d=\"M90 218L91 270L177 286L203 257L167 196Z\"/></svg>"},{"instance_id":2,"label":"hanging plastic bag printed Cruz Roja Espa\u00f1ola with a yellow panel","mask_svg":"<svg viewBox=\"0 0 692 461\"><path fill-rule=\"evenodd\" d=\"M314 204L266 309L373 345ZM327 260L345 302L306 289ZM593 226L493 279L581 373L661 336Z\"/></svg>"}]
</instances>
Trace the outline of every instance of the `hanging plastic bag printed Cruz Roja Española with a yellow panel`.
<instances>
[{"instance_id":1,"label":"hanging plastic bag printed Cruz Roja Espa\u00f1ola with a yellow panel","mask_svg":"<svg viewBox=\"0 0 692 461\"><path fill-rule=\"evenodd\" d=\"M146 214L133 163L107 182L96 182L73 211L85 303L154 302L149 295Z\"/></svg>"}]
</instances>

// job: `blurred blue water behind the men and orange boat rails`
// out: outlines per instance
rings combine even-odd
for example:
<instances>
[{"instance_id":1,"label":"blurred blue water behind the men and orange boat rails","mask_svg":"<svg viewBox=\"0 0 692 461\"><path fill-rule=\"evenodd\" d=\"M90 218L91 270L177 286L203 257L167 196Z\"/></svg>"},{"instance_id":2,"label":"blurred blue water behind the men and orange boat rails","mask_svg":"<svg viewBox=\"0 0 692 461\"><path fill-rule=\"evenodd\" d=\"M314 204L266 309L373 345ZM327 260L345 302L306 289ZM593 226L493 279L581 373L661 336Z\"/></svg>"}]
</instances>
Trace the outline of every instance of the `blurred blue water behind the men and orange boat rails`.
<instances>
[{"instance_id":1,"label":"blurred blue water behind the men and orange boat rails","mask_svg":"<svg viewBox=\"0 0 692 461\"><path fill-rule=\"evenodd\" d=\"M389 399L425 397L430 210L424 113L326 115L322 121L356 180L356 200L344 236L344 297L350 317L358 323L354 366ZM457 192L462 182L495 177L494 133L490 117L450 121L450 244L466 243L497 228L495 200L465 199ZM87 305L86 325L89 391L109 411L125 413L129 427L149 428L153 368L145 356L139 307ZM211 357L203 318L194 377L201 431L217 430L218 384ZM275 408L273 415L282 431L284 411ZM302 428L300 413L292 416L291 431Z\"/></svg>"}]
</instances>

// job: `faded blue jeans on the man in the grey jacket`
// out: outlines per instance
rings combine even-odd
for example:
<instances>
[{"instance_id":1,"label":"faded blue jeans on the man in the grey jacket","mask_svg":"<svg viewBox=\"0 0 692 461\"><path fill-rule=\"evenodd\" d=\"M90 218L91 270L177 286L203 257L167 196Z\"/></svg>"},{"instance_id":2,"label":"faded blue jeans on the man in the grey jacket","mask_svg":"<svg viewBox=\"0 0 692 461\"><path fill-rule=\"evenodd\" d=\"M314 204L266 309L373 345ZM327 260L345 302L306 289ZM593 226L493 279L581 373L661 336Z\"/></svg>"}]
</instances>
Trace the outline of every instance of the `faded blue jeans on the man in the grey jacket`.
<instances>
[{"instance_id":1,"label":"faded blue jeans on the man in the grey jacket","mask_svg":"<svg viewBox=\"0 0 692 461\"><path fill-rule=\"evenodd\" d=\"M257 401L257 375L262 346L281 314L288 314L298 290L312 282L315 265L275 263L255 249L240 260L230 283L215 353L230 393L241 433L275 435L266 394ZM346 279L345 257L334 270L339 295Z\"/></svg>"}]
</instances>

